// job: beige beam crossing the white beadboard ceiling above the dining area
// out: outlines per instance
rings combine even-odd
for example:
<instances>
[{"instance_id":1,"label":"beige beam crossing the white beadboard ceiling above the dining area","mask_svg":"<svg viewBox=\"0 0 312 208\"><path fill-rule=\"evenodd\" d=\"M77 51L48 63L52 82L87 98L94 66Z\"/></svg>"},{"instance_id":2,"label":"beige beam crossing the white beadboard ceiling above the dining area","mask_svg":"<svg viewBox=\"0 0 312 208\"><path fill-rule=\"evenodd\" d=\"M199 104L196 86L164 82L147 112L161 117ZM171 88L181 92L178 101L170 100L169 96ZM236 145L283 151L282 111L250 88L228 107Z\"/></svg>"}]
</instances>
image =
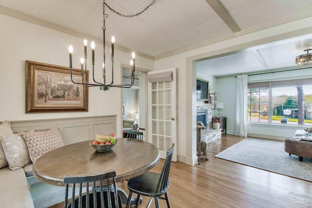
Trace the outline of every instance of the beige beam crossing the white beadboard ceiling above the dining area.
<instances>
[{"instance_id":1,"label":"beige beam crossing the white beadboard ceiling above the dining area","mask_svg":"<svg viewBox=\"0 0 312 208\"><path fill-rule=\"evenodd\" d=\"M224 21L226 25L233 31L233 33L239 32L240 29L234 22L234 20L228 15L228 13L222 8L217 0L206 0L209 6L215 11L215 13Z\"/></svg>"}]
</instances>

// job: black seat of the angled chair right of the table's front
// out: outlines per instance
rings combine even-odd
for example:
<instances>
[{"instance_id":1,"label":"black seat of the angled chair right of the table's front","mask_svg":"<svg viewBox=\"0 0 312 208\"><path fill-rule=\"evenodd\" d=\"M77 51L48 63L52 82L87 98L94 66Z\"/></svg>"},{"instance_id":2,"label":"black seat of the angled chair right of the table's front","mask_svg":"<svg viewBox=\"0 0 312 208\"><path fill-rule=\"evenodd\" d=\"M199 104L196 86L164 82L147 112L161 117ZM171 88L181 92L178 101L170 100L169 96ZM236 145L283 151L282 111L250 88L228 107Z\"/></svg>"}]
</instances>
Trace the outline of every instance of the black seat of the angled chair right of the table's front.
<instances>
[{"instance_id":1,"label":"black seat of the angled chair right of the table's front","mask_svg":"<svg viewBox=\"0 0 312 208\"><path fill-rule=\"evenodd\" d=\"M168 184L166 189L162 192L155 192L158 186L160 173L157 172L145 172L142 175L139 175L135 178L132 178L128 181L128 189L132 192L149 197L157 197L163 195L170 184L170 180L168 179Z\"/></svg>"}]
</instances>

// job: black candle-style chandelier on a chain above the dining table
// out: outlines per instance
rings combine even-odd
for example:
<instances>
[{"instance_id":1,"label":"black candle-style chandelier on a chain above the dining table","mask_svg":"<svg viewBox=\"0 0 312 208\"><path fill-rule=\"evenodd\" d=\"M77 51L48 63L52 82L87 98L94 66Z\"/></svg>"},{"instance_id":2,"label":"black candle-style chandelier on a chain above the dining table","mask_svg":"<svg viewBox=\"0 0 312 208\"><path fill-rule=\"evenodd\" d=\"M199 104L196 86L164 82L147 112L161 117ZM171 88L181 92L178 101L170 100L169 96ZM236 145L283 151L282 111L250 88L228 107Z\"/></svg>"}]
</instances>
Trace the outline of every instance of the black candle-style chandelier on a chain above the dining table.
<instances>
[{"instance_id":1,"label":"black candle-style chandelier on a chain above the dining table","mask_svg":"<svg viewBox=\"0 0 312 208\"><path fill-rule=\"evenodd\" d=\"M103 81L99 82L96 81L95 77L94 77L94 65L95 65L95 61L94 61L94 55L95 55L95 47L96 44L95 42L92 40L91 42L91 49L92 49L92 74L93 74L93 81L95 83L89 83L87 80L87 44L88 41L87 39L83 40L83 44L84 44L84 57L80 58L80 63L81 63L81 82L75 82L73 80L73 75L72 75L72 68L73 68L73 51L74 48L72 45L70 45L68 47L69 50L69 68L70 68L70 77L73 83L75 84L81 84L84 87L100 87L100 90L109 90L110 87L121 87L121 88L130 88L132 87L134 81L135 81L135 70L136 70L136 54L135 52L132 52L132 60L130 61L130 65L131 65L131 84L120 84L120 85L114 85L114 44L115 44L115 37L112 36L111 42L112 42L112 46L111 46L111 61L112 61L112 82L109 84L106 84L106 60L105 60L105 30L106 30L106 26L105 26L105 19L108 17L107 14L105 14L105 7L107 7L108 9L110 9L113 13L116 13L117 15L121 16L121 17L127 17L127 18L132 18L135 16L139 16L140 14L142 14L143 12L145 12L145 10L147 10L150 6L154 5L156 3L156 0L152 0L152 2L145 7L145 9L143 9L141 12L137 13L136 15L123 15L120 14L118 12L116 12L114 9L112 9L109 5L107 5L105 3L105 0L103 0L103 64L102 64L102 74L103 74ZM84 65L84 68L83 68Z\"/></svg>"}]
</instances>

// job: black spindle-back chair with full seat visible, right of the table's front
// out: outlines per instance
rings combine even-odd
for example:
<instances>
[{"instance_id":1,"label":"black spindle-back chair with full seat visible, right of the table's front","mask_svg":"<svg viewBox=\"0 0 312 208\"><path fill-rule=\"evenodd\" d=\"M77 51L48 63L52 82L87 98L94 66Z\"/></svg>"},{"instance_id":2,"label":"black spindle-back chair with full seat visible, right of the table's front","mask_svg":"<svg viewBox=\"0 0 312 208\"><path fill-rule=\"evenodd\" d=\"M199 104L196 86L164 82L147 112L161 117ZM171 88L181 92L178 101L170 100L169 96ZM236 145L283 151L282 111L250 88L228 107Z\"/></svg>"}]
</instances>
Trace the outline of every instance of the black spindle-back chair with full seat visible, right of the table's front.
<instances>
[{"instance_id":1,"label":"black spindle-back chair with full seat visible, right of the table's front","mask_svg":"<svg viewBox=\"0 0 312 208\"><path fill-rule=\"evenodd\" d=\"M166 160L161 170L161 173L148 171L135 178L129 179L128 181L129 198L126 208L130 207L132 193L137 193L137 199L140 198L140 195L151 197L150 201L148 202L147 208L150 207L153 198L155 198L156 208L159 208L158 198L165 199L168 208L170 208L167 190L170 184L169 172L174 147L175 144L172 144L172 147L167 151ZM165 197L161 197L164 194Z\"/></svg>"}]
</instances>

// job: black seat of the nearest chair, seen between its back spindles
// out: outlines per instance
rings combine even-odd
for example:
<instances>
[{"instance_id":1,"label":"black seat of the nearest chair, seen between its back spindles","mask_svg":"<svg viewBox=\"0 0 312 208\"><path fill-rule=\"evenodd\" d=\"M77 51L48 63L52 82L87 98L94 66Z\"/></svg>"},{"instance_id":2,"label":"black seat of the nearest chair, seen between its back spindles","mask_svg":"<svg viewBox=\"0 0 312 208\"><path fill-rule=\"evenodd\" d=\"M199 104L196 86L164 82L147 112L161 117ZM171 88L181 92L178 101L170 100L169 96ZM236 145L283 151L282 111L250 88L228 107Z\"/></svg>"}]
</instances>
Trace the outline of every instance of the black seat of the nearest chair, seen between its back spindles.
<instances>
[{"instance_id":1,"label":"black seat of the nearest chair, seen between its back spindles","mask_svg":"<svg viewBox=\"0 0 312 208\"><path fill-rule=\"evenodd\" d=\"M107 200L107 193L106 191L103 191L104 193L104 208L108 208L108 200ZM118 196L118 206L121 208L122 207L122 204L121 204L121 198L119 195ZM111 191L111 201L114 202L114 192ZM74 207L75 208L78 208L78 198L76 198L74 200ZM100 192L97 192L97 205L98 205L98 208L101 208L101 196L100 196ZM86 207L86 195L83 195L82 196L82 208L87 208ZM71 207L71 204L68 205L67 208L70 208ZM93 208L93 194L89 194L89 208ZM115 208L115 205L112 204L112 208Z\"/></svg>"}]
</instances>

